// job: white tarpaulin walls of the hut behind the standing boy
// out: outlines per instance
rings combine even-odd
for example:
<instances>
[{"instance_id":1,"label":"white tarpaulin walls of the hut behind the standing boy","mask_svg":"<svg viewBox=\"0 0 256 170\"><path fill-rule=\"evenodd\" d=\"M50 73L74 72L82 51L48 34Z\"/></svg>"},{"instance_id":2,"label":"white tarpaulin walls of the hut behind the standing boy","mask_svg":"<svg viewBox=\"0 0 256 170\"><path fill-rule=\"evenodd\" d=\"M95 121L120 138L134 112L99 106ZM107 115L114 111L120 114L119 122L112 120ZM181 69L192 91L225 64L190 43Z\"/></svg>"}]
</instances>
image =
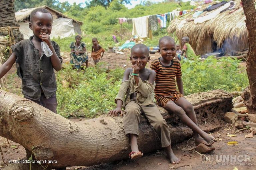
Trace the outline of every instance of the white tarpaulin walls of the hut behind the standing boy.
<instances>
[{"instance_id":1,"label":"white tarpaulin walls of the hut behind the standing boy","mask_svg":"<svg viewBox=\"0 0 256 170\"><path fill-rule=\"evenodd\" d=\"M69 18L58 18L53 20L50 38L65 38L75 35L72 22L73 20ZM20 22L19 25L24 39L29 39L30 36L33 36L33 31L30 30L28 23Z\"/></svg>"}]
</instances>

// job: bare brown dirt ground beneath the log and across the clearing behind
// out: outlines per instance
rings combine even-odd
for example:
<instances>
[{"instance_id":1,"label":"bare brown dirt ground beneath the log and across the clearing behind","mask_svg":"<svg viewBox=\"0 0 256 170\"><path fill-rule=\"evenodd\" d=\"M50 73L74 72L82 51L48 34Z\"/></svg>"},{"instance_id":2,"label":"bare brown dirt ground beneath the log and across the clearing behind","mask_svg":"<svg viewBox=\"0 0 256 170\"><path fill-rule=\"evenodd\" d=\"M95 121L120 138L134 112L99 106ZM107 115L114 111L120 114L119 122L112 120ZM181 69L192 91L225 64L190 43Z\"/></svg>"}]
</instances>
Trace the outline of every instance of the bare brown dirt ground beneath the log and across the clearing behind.
<instances>
[{"instance_id":1,"label":"bare brown dirt ground beneath the log and across the clearing behind","mask_svg":"<svg viewBox=\"0 0 256 170\"><path fill-rule=\"evenodd\" d=\"M159 54L150 54L151 61L155 58L160 57ZM69 54L63 53L64 62L69 61ZM66 56L66 57L65 57ZM129 60L129 53L116 54L116 53L106 53L101 61L104 61L109 64L109 68L113 69L116 67L126 67L131 66ZM150 62L151 62L150 61ZM149 63L150 63L149 62ZM89 66L94 66L94 62L89 57ZM241 66L246 66L246 63L243 62ZM150 64L148 64L150 67ZM15 67L8 73L11 74L15 72ZM14 77L16 81L15 86L21 84L20 79ZM12 92L11 89L9 89ZM71 119L73 122L79 121L79 119ZM238 170L255 170L256 169L256 138L245 138L244 135L248 134L246 130L239 132L235 137L228 137L227 134L234 134L231 130L224 130L230 124L227 124L226 127L221 128L217 132L213 132L212 135L219 137L222 141L216 141L214 146L216 149L209 155L201 156L198 153L188 150L194 149L193 138L191 140L184 141L182 143L174 144L174 153L177 157L181 159L181 162L177 165L171 164L165 157L164 152L158 151L155 153L144 154L142 158L137 160L123 160L113 163L94 165L91 167L68 167L68 170L131 170L131 169L140 169L140 170L204 170L204 169L222 169L222 170L233 170L235 167ZM229 141L237 141L238 145L228 145ZM7 140L0 136L0 146L3 150L4 161L8 160L21 159L26 156L25 149L18 143L9 141L10 147L5 148ZM208 161L203 158L208 157ZM246 162L244 162L246 160ZM0 169L4 166L2 158L0 158Z\"/></svg>"}]
</instances>

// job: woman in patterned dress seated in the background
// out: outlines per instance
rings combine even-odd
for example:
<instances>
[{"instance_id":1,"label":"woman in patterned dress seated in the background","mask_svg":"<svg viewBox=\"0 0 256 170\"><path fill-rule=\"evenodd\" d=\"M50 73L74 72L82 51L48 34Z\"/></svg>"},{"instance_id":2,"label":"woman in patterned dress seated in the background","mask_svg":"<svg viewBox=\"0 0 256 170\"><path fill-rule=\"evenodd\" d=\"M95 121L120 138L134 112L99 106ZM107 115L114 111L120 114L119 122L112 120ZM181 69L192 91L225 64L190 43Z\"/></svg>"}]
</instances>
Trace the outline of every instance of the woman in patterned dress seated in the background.
<instances>
[{"instance_id":1,"label":"woman in patterned dress seated in the background","mask_svg":"<svg viewBox=\"0 0 256 170\"><path fill-rule=\"evenodd\" d=\"M84 42L81 42L82 37L77 35L75 37L76 42L71 42L70 48L70 63L73 67L81 69L81 66L88 67L88 53L86 52L86 45Z\"/></svg>"}]
</instances>

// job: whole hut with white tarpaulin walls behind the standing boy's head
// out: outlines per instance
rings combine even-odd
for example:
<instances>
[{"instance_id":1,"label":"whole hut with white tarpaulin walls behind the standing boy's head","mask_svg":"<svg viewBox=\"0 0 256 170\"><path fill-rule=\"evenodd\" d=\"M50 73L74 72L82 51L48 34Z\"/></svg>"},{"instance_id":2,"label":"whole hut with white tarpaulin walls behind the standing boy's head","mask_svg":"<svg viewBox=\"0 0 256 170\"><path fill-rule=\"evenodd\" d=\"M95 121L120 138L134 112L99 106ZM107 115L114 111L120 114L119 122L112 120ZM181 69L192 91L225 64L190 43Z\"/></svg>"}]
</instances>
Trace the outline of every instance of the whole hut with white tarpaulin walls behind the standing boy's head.
<instances>
[{"instance_id":1,"label":"whole hut with white tarpaulin walls behind the standing boy's head","mask_svg":"<svg viewBox=\"0 0 256 170\"><path fill-rule=\"evenodd\" d=\"M46 8L50 11L53 16L53 26L52 33L50 34L50 38L65 38L70 37L77 34L81 34L80 26L82 22L76 21L74 19L68 18L61 12L58 12L52 8L47 6L41 6L37 8ZM33 35L32 30L29 28L29 15L36 8L31 9L22 9L20 11L15 12L15 18L19 22L20 31L23 34L24 39L28 39Z\"/></svg>"}]
</instances>

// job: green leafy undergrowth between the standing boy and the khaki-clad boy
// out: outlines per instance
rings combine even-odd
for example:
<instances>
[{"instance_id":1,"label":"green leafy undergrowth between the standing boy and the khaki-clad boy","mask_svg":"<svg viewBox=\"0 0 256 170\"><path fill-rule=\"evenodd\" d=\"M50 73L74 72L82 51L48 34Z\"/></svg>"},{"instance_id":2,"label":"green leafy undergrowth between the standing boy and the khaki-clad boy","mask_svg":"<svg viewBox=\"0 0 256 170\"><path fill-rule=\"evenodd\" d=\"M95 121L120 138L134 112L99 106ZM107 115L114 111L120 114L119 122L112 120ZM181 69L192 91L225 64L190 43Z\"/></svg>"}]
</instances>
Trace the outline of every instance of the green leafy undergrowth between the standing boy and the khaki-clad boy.
<instances>
[{"instance_id":1,"label":"green leafy undergrowth between the standing boy and the khaki-clad boy","mask_svg":"<svg viewBox=\"0 0 256 170\"><path fill-rule=\"evenodd\" d=\"M57 73L57 111L63 117L95 117L115 107L123 69L106 73L105 64L84 71L67 67Z\"/></svg>"}]
</instances>

